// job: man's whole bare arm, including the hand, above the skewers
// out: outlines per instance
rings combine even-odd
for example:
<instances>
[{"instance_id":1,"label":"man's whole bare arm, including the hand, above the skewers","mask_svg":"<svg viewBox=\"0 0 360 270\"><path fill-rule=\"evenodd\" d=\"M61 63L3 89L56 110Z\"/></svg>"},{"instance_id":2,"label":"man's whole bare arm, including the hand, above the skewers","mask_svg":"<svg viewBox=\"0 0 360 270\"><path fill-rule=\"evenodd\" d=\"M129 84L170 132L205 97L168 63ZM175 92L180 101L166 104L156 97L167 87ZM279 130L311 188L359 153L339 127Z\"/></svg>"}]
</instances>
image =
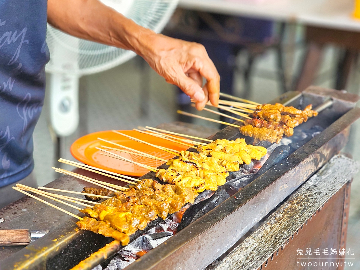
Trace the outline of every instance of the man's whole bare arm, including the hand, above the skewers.
<instances>
[{"instance_id":1,"label":"man's whole bare arm, including the hand, above the skewers","mask_svg":"<svg viewBox=\"0 0 360 270\"><path fill-rule=\"evenodd\" d=\"M156 34L98 0L48 0L48 22L70 35L135 51L196 100L197 109L208 100L218 104L220 76L201 44Z\"/></svg>"}]
</instances>

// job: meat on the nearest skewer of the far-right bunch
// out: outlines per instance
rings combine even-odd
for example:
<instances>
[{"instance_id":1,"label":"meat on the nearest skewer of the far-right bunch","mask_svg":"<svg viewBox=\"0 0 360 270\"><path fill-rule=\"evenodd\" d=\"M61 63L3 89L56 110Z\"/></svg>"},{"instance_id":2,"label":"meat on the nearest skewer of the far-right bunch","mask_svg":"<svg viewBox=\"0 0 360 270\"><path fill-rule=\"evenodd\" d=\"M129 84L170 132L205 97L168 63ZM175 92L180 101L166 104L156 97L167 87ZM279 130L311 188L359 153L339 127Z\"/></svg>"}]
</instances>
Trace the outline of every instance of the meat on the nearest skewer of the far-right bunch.
<instances>
[{"instance_id":1,"label":"meat on the nearest skewer of the far-right bunch","mask_svg":"<svg viewBox=\"0 0 360 270\"><path fill-rule=\"evenodd\" d=\"M269 141L270 143L279 143L283 138L284 130L271 130L265 127L253 127L252 125L245 125L239 127L240 132L245 135L254 138L254 142Z\"/></svg>"}]
</instances>

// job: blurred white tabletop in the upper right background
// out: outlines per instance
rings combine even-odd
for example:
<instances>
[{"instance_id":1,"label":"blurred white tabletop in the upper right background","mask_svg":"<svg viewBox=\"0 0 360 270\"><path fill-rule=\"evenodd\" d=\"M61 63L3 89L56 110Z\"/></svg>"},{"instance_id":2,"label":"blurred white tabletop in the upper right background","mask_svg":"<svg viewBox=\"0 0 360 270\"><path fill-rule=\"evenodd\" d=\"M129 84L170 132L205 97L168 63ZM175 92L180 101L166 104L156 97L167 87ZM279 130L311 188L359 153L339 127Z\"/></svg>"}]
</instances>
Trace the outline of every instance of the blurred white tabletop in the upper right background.
<instances>
[{"instance_id":1,"label":"blurred white tabletop in the upper right background","mask_svg":"<svg viewBox=\"0 0 360 270\"><path fill-rule=\"evenodd\" d=\"M360 32L360 19L352 18L355 0L180 0L179 7L310 26Z\"/></svg>"}]
</instances>

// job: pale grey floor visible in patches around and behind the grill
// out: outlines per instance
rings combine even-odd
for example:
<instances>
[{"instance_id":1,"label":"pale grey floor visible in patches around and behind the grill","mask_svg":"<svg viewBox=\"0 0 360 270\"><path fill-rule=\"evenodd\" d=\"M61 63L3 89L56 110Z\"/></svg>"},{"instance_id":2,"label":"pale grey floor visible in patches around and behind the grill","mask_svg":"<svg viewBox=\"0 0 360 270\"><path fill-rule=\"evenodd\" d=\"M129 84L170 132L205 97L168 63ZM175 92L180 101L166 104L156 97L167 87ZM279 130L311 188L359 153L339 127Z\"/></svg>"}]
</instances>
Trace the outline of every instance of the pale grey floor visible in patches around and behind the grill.
<instances>
[{"instance_id":1,"label":"pale grey floor visible in patches around and behind the grill","mask_svg":"<svg viewBox=\"0 0 360 270\"><path fill-rule=\"evenodd\" d=\"M302 49L300 48L297 50L297 59L301 53ZM319 77L317 85L332 87L333 70L331 67L336 55L337 50L329 47L321 67L320 74L323 75ZM138 59L133 59L109 71L82 78L82 87L86 89L82 94L82 103L86 104L83 108L85 118L82 119L81 129L74 135L69 136L69 138L62 139L62 157L73 159L68 151L70 145L79 136L90 132L109 129L132 129L144 125L156 126L161 122L176 120L176 89L174 86L168 85L163 78L151 70L149 71L150 79L148 84L149 111L147 115L141 115L140 78L142 71L139 68L138 62ZM275 67L275 54L272 50L269 50L256 60L252 78L251 100L264 103L281 94L278 81L276 80ZM262 77L264 71L272 74L273 78L271 76L267 76L267 78ZM243 91L242 77L236 75L235 82L234 92L241 95ZM357 93L359 85L353 84L349 89ZM206 113L203 113L203 115L206 115ZM54 137L51 136L46 119L45 109L34 132L35 173L40 185L45 185L57 177L51 166L54 166L54 164L55 166L60 166L58 162L56 164L54 161ZM205 121L197 123L210 125ZM358 161L360 161L359 141L360 122L358 121L352 128L352 140L346 148L350 149L350 153ZM351 269L360 269L359 192L360 174L357 174L352 184L347 247L354 248L357 255L355 257L359 259L357 260L358 267Z\"/></svg>"}]
</instances>

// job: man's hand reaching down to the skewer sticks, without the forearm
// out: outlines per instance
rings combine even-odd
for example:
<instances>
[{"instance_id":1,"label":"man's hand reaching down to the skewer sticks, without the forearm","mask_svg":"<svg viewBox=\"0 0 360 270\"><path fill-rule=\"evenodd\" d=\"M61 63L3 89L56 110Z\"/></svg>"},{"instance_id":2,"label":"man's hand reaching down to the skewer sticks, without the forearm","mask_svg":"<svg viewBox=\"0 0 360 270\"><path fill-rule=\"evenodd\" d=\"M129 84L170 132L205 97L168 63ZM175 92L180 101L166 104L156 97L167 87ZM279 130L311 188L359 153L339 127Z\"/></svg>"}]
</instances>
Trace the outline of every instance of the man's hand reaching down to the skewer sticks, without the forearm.
<instances>
[{"instance_id":1,"label":"man's hand reaching down to the skewer sticks, without the forearm","mask_svg":"<svg viewBox=\"0 0 360 270\"><path fill-rule=\"evenodd\" d=\"M168 83L195 100L198 110L209 100L217 106L220 76L203 45L155 33L144 36L140 43L145 45L137 53Z\"/></svg>"}]
</instances>

